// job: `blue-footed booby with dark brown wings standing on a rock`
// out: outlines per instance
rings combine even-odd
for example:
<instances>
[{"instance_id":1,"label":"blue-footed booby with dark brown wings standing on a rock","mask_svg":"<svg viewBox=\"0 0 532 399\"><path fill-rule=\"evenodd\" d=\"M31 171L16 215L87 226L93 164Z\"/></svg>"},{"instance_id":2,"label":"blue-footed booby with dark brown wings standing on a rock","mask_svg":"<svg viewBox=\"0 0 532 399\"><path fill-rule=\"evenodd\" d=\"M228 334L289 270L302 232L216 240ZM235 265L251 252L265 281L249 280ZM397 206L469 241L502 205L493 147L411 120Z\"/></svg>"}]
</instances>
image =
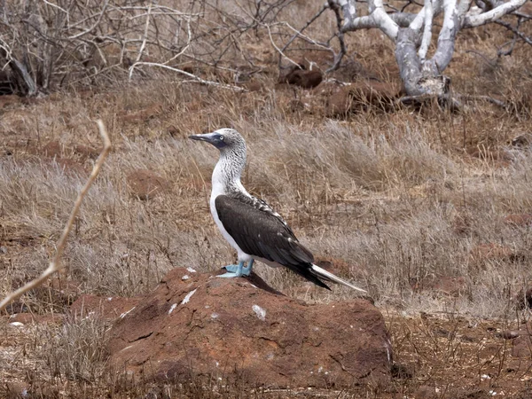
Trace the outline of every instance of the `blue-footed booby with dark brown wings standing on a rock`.
<instances>
[{"instance_id":1,"label":"blue-footed booby with dark brown wings standing on a rock","mask_svg":"<svg viewBox=\"0 0 532 399\"><path fill-rule=\"evenodd\" d=\"M227 272L219 277L249 276L256 260L271 267L284 266L329 290L324 280L366 293L314 264L314 255L295 237L282 216L246 191L240 181L246 167L246 141L237 130L217 129L189 138L207 142L220 151L212 175L210 211L223 238L237 251L239 263L225 266Z\"/></svg>"}]
</instances>

